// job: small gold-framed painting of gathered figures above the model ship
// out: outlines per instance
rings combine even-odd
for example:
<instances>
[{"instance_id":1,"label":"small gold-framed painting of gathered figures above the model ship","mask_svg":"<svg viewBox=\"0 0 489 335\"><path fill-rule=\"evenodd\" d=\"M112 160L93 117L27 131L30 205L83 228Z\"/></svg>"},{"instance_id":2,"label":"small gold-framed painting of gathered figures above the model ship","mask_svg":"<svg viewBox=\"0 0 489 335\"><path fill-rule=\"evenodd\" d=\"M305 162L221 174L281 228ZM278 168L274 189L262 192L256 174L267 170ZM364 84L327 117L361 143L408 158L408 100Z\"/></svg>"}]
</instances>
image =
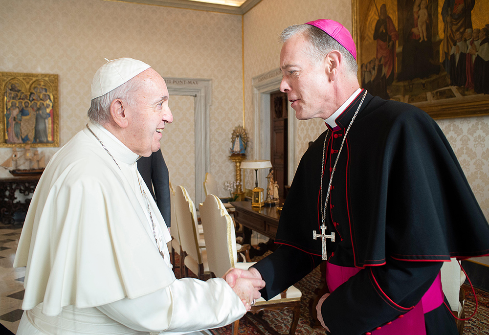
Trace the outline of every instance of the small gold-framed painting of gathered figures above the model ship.
<instances>
[{"instance_id":1,"label":"small gold-framed painting of gathered figures above the model ship","mask_svg":"<svg viewBox=\"0 0 489 335\"><path fill-rule=\"evenodd\" d=\"M0 147L59 147L58 75L0 72Z\"/></svg>"}]
</instances>

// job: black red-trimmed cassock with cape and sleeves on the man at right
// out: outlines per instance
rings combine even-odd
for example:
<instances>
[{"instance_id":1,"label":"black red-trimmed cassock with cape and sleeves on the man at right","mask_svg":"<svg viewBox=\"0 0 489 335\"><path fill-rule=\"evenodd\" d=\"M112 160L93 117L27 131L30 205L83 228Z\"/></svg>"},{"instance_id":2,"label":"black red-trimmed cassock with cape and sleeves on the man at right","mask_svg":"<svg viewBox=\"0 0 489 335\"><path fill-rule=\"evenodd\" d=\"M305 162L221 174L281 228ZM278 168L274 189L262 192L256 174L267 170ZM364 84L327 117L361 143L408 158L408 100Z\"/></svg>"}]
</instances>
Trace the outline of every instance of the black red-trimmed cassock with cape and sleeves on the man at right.
<instances>
[{"instance_id":1,"label":"black red-trimmed cassock with cape and sleeves on the man at right","mask_svg":"<svg viewBox=\"0 0 489 335\"><path fill-rule=\"evenodd\" d=\"M253 267L267 299L321 262L320 207L346 128L364 91L301 159L283 206L277 250ZM332 334L364 334L415 306L451 257L489 254L489 226L445 135L416 107L367 93L338 160L326 233L328 262L360 271L322 305ZM382 291L378 290L378 287ZM446 299L445 299L446 301ZM424 314L427 334L458 334L442 304Z\"/></svg>"}]
</instances>

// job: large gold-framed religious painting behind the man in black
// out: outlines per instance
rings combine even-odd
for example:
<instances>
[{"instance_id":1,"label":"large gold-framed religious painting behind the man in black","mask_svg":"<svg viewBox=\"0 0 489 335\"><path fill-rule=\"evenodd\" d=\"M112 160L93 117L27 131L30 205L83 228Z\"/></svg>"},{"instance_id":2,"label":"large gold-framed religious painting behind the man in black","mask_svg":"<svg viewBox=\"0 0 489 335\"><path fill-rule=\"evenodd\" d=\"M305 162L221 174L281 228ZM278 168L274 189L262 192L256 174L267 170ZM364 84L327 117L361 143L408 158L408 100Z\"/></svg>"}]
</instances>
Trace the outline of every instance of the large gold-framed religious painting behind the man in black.
<instances>
[{"instance_id":1,"label":"large gold-framed religious painting behind the man in black","mask_svg":"<svg viewBox=\"0 0 489 335\"><path fill-rule=\"evenodd\" d=\"M352 0L362 88L434 118L489 114L489 1Z\"/></svg>"}]
</instances>

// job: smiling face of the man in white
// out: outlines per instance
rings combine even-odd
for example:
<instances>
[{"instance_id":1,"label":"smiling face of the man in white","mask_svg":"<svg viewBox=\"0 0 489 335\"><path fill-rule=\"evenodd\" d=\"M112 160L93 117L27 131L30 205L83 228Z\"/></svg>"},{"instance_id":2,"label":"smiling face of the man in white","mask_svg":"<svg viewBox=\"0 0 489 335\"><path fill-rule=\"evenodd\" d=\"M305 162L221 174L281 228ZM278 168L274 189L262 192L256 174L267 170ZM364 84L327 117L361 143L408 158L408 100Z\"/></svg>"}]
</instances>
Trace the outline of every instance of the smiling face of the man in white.
<instances>
[{"instance_id":1,"label":"smiling face of the man in white","mask_svg":"<svg viewBox=\"0 0 489 335\"><path fill-rule=\"evenodd\" d=\"M134 93L133 106L126 107L129 117L125 144L140 156L151 156L160 148L159 140L165 123L172 123L168 107L168 89L161 76L152 68L137 75L140 84Z\"/></svg>"}]
</instances>

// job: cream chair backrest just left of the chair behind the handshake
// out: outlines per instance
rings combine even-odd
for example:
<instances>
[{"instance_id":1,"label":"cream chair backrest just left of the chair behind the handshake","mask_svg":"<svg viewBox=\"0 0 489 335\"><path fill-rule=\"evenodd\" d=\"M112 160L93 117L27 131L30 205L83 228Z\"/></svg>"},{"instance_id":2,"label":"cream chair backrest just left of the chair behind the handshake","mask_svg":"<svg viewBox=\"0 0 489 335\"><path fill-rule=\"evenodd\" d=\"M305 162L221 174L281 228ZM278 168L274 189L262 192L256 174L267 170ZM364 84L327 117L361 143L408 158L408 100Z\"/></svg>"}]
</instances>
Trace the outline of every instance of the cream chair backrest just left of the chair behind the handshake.
<instances>
[{"instance_id":1,"label":"cream chair backrest just left of the chair behind the handshake","mask_svg":"<svg viewBox=\"0 0 489 335\"><path fill-rule=\"evenodd\" d=\"M202 255L199 249L197 211L194 201L190 199L187 190L181 185L178 185L175 191L175 214L182 250L201 264Z\"/></svg>"}]
</instances>

